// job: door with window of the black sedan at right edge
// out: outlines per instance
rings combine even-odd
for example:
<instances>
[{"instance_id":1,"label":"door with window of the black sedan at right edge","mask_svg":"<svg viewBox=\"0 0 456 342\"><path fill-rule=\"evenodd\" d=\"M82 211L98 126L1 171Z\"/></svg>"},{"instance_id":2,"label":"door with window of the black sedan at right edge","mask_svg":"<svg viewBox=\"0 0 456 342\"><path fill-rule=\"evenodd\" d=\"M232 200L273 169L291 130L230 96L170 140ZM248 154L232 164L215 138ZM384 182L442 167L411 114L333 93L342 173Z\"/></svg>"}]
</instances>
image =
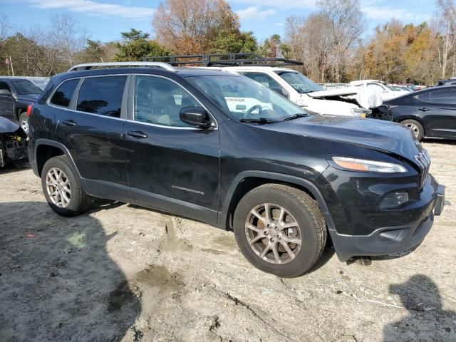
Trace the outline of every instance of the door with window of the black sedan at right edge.
<instances>
[{"instance_id":1,"label":"door with window of the black sedan at right edge","mask_svg":"<svg viewBox=\"0 0 456 342\"><path fill-rule=\"evenodd\" d=\"M437 88L413 99L427 136L456 138L456 88Z\"/></svg>"}]
</instances>

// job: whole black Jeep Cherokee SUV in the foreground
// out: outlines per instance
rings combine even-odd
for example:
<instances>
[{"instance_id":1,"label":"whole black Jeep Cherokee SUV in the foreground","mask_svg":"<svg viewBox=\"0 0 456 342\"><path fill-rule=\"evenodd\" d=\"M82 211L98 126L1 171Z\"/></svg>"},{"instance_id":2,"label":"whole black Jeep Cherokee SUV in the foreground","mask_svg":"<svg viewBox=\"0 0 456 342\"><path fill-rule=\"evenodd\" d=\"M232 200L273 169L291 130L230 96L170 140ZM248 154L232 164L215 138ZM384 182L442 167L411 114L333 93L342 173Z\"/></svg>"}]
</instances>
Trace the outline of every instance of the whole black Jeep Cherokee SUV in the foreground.
<instances>
[{"instance_id":1,"label":"whole black Jeep Cherokee SUV in the foreground","mask_svg":"<svg viewBox=\"0 0 456 342\"><path fill-rule=\"evenodd\" d=\"M33 171L53 210L115 199L233 230L263 271L420 244L443 207L430 158L382 120L309 115L243 76L164 63L83 65L33 106ZM149 66L149 67L145 67Z\"/></svg>"}]
</instances>

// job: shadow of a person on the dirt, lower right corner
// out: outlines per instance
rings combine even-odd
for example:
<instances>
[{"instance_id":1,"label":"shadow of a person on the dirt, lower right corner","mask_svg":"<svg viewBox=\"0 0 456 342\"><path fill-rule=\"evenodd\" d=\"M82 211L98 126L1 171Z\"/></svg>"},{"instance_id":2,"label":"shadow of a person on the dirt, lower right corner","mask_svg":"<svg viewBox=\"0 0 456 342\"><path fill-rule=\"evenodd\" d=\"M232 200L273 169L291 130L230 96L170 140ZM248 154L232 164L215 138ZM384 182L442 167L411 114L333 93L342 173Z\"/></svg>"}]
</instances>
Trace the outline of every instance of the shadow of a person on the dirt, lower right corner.
<instances>
[{"instance_id":1,"label":"shadow of a person on the dirt, lower right corner","mask_svg":"<svg viewBox=\"0 0 456 342\"><path fill-rule=\"evenodd\" d=\"M428 276L416 274L389 286L408 310L407 316L383 328L383 341L456 341L456 312L442 308L442 296Z\"/></svg>"}]
</instances>

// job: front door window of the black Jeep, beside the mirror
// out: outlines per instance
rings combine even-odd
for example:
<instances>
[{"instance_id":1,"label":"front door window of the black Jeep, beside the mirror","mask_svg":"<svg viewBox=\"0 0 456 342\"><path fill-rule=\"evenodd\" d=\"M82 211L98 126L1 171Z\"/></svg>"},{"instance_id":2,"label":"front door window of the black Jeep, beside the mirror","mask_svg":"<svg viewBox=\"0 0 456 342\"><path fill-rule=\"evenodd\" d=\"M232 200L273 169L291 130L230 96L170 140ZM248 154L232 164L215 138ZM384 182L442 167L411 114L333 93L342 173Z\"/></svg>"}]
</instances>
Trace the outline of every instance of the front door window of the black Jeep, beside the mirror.
<instances>
[{"instance_id":1,"label":"front door window of the black Jeep, beside the mirror","mask_svg":"<svg viewBox=\"0 0 456 342\"><path fill-rule=\"evenodd\" d=\"M136 76L134 103L135 120L175 127L192 127L180 120L180 110L201 106L177 84L153 76Z\"/></svg>"}]
</instances>

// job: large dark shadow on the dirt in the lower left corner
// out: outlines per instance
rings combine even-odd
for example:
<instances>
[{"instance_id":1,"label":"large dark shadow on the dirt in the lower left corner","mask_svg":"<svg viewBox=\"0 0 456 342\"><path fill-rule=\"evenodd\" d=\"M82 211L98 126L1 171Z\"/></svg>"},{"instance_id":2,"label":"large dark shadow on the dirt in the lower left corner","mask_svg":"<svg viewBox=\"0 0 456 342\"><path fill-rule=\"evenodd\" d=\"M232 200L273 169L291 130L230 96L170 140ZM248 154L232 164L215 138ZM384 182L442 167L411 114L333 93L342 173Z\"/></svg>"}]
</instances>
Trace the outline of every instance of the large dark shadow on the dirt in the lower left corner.
<instances>
[{"instance_id":1,"label":"large dark shadow on the dirt in the lower left corner","mask_svg":"<svg viewBox=\"0 0 456 342\"><path fill-rule=\"evenodd\" d=\"M0 341L120 341L133 326L139 294L97 219L6 202L0 234Z\"/></svg>"}]
</instances>

